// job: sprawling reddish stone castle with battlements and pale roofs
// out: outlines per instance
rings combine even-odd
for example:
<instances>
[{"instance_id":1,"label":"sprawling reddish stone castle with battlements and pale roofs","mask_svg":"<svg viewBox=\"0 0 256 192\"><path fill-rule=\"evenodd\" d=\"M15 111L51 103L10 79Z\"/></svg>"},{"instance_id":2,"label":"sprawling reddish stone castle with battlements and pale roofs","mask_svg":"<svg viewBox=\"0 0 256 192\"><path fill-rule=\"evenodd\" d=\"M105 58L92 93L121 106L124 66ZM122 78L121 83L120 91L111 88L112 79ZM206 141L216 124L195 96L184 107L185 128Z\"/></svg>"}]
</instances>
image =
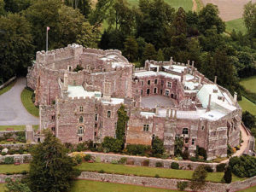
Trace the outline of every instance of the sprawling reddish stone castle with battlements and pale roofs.
<instances>
[{"instance_id":1,"label":"sprawling reddish stone castle with battlements and pale roofs","mask_svg":"<svg viewBox=\"0 0 256 192\"><path fill-rule=\"evenodd\" d=\"M77 67L82 70L74 72ZM194 67L172 61L145 61L135 68L119 50L85 49L78 44L38 52L27 86L40 106L40 128L62 143L115 137L121 105L130 117L125 144L151 145L154 137L174 153L175 137L208 160L227 156L240 143L241 108L235 96Z\"/></svg>"}]
</instances>

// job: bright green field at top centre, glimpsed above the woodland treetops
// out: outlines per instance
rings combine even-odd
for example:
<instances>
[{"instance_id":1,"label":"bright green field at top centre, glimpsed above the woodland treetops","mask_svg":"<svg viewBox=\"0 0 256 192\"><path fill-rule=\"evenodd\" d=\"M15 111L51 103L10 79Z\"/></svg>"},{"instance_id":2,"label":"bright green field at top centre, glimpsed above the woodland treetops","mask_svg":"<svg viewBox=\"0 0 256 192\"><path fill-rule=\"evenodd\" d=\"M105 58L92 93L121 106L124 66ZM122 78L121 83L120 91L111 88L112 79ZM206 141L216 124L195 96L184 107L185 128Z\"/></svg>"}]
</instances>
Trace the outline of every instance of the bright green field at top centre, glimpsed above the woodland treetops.
<instances>
[{"instance_id":1,"label":"bright green field at top centre, glimpsed above the woodland treetops","mask_svg":"<svg viewBox=\"0 0 256 192\"><path fill-rule=\"evenodd\" d=\"M139 0L127 0L131 6L137 6ZM192 0L165 0L166 3L170 4L174 9L178 9L179 7L183 7L185 11L192 10L193 2Z\"/></svg>"}]
</instances>

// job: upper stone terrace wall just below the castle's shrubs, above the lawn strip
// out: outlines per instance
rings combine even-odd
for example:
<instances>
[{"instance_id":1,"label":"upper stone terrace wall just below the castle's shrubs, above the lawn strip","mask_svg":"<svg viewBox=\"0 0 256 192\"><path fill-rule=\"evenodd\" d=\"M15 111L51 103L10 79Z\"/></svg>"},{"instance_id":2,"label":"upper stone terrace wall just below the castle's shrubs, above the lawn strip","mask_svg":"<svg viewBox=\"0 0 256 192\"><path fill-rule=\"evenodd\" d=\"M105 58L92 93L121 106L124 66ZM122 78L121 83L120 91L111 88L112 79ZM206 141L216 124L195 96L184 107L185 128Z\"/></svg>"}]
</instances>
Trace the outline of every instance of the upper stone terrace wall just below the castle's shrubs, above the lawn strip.
<instances>
[{"instance_id":1,"label":"upper stone terrace wall just below the castle's shrubs, above the lawn strip","mask_svg":"<svg viewBox=\"0 0 256 192\"><path fill-rule=\"evenodd\" d=\"M91 154L96 159L100 159L101 162L111 163L113 160L120 160L121 158L127 158L127 161L133 161L134 166L143 166L144 160L149 160L149 165L155 167L156 162L161 162L164 168L170 168L172 162L176 162L179 165L180 169L183 170L195 170L197 166L211 166L214 171L216 171L216 166L218 163L203 163L203 162L193 162L186 160L162 160L152 157L141 157L141 156L131 156L131 155L122 155L122 154L103 154L103 153L94 153L94 152L84 152L84 154Z\"/></svg>"}]
</instances>

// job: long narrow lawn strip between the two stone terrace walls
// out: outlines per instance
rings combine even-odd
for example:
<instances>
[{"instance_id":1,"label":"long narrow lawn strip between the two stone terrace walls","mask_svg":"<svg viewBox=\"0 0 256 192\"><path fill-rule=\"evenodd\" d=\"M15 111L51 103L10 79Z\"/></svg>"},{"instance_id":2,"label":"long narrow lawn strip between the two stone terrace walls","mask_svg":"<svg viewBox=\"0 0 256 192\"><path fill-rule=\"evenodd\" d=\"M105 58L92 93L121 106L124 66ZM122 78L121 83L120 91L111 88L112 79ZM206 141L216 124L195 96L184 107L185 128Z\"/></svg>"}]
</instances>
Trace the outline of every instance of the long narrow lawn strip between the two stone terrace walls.
<instances>
[{"instance_id":1,"label":"long narrow lawn strip between the two stone terrace walls","mask_svg":"<svg viewBox=\"0 0 256 192\"><path fill-rule=\"evenodd\" d=\"M115 165L107 163L83 163L78 166L81 171L99 172L103 170L108 173L117 174L131 174L137 176L154 177L158 174L160 177L166 178L184 178L191 179L193 171L188 170L175 170L166 168L154 168L147 166L125 166L125 165ZM224 172L210 172L207 176L207 181L211 182L221 182ZM240 177L233 176L232 181L242 180Z\"/></svg>"}]
</instances>

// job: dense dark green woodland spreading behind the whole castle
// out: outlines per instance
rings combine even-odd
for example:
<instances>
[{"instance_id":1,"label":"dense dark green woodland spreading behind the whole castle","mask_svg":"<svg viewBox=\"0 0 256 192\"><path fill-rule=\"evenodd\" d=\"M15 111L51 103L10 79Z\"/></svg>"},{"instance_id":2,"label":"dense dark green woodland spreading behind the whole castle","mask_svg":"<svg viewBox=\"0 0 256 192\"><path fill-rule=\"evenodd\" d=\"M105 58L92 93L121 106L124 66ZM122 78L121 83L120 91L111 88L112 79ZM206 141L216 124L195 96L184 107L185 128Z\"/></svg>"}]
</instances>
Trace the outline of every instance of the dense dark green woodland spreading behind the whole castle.
<instances>
[{"instance_id":1,"label":"dense dark green woodland spreading behind the whole castle","mask_svg":"<svg viewBox=\"0 0 256 192\"><path fill-rule=\"evenodd\" d=\"M208 79L245 92L239 79L256 74L256 3L247 3L247 33L225 32L218 8L207 4L199 13L173 9L163 0L0 0L0 84L15 74L26 74L35 53L82 44L120 49L129 61L143 67L145 60L195 61ZM247 94L253 101L256 96Z\"/></svg>"}]
</instances>

